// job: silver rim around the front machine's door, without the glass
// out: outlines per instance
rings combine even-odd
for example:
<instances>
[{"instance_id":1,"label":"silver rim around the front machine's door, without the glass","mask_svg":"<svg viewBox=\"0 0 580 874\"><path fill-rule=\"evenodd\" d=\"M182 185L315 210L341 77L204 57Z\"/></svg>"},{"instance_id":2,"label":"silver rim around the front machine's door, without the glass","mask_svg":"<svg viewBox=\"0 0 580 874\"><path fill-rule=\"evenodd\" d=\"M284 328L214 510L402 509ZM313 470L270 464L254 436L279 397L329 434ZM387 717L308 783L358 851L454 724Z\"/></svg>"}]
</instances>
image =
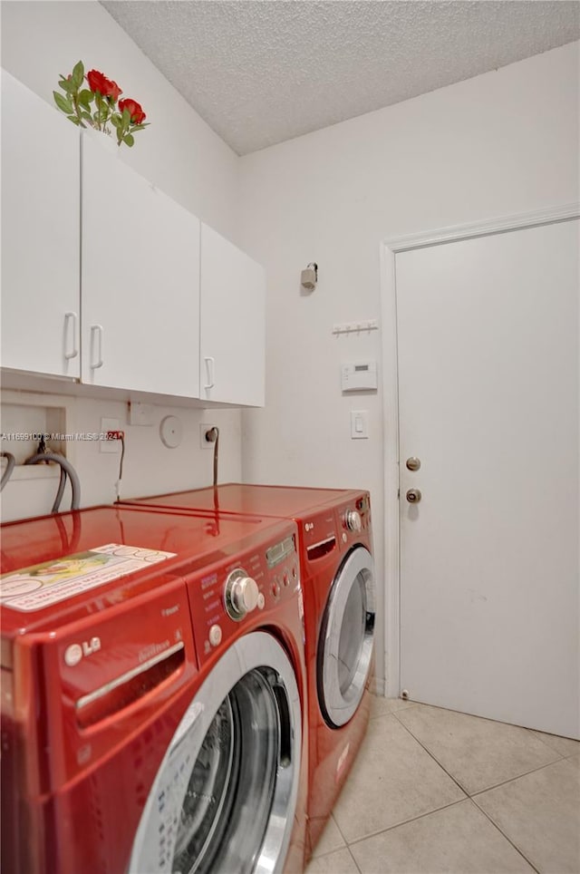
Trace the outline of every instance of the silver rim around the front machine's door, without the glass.
<instances>
[{"instance_id":1,"label":"silver rim around the front machine's door, without the glass","mask_svg":"<svg viewBox=\"0 0 580 874\"><path fill-rule=\"evenodd\" d=\"M294 667L275 637L256 631L240 637L219 659L189 704L160 764L133 842L128 874L170 874L177 830L168 834L166 805L176 821L188 788L189 771L197 761L208 728L237 683L255 669L273 669L285 689L291 722L292 763L278 767L266 833L256 848L253 874L278 874L284 869L300 782L302 706ZM189 764L186 764L188 762ZM179 777L178 777L179 774ZM183 774L183 776L181 776ZM160 833L171 843L160 864Z\"/></svg>"}]
</instances>

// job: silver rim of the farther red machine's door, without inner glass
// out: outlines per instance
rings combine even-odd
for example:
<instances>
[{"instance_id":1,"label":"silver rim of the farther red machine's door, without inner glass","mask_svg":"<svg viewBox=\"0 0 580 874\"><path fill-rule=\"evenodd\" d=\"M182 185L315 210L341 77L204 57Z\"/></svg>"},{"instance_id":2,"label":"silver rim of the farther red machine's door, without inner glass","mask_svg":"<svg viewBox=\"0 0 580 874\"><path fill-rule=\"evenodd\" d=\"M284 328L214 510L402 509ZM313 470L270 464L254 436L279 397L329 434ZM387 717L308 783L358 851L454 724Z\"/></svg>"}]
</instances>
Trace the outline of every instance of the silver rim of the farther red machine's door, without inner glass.
<instances>
[{"instance_id":1,"label":"silver rim of the farther red machine's door, without inner glass","mask_svg":"<svg viewBox=\"0 0 580 874\"><path fill-rule=\"evenodd\" d=\"M362 575L366 600L366 615L362 617L365 630L353 680L343 692L339 677L341 633L348 598L353 586L359 585L359 575ZM348 723L361 703L372 664L373 626L374 561L368 549L358 546L349 553L334 578L324 614L323 637L319 644L318 693L321 709L334 728Z\"/></svg>"}]
</instances>

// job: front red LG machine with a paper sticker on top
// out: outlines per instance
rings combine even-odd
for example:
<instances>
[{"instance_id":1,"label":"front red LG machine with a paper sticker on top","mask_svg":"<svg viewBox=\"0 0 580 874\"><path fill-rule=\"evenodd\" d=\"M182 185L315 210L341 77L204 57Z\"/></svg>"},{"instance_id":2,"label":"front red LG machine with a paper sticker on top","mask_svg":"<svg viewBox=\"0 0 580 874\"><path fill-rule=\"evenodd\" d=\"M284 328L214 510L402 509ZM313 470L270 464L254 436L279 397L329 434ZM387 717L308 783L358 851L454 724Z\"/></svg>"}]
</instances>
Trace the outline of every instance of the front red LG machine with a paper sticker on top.
<instances>
[{"instance_id":1,"label":"front red LG machine with a paper sticker on top","mask_svg":"<svg viewBox=\"0 0 580 874\"><path fill-rule=\"evenodd\" d=\"M302 870L295 524L117 506L1 533L3 869Z\"/></svg>"}]
</instances>

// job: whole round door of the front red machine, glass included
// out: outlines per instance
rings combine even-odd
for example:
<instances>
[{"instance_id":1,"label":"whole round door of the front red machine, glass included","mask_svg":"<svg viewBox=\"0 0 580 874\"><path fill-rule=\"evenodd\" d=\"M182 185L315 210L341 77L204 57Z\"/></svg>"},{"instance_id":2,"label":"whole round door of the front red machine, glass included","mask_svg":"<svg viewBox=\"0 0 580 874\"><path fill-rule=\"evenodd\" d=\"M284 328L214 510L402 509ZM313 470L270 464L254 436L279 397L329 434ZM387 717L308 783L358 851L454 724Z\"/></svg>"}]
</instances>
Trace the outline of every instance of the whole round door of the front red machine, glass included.
<instances>
[{"instance_id":1,"label":"whole round door of the front red machine, glass included","mask_svg":"<svg viewBox=\"0 0 580 874\"><path fill-rule=\"evenodd\" d=\"M285 650L241 637L189 704L153 782L130 874L272 874L294 826L302 710Z\"/></svg>"}]
</instances>

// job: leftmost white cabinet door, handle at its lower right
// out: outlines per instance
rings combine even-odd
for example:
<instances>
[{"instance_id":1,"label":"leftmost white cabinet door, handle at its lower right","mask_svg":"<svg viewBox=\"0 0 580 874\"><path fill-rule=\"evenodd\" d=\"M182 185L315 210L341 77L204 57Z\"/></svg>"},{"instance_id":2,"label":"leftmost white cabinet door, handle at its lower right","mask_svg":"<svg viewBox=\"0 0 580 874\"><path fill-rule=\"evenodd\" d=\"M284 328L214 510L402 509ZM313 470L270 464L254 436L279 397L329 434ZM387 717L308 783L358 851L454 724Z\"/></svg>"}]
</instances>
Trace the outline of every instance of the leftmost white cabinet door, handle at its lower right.
<instances>
[{"instance_id":1,"label":"leftmost white cabinet door, handle at its lower right","mask_svg":"<svg viewBox=\"0 0 580 874\"><path fill-rule=\"evenodd\" d=\"M78 129L2 72L2 365L80 375Z\"/></svg>"}]
</instances>

